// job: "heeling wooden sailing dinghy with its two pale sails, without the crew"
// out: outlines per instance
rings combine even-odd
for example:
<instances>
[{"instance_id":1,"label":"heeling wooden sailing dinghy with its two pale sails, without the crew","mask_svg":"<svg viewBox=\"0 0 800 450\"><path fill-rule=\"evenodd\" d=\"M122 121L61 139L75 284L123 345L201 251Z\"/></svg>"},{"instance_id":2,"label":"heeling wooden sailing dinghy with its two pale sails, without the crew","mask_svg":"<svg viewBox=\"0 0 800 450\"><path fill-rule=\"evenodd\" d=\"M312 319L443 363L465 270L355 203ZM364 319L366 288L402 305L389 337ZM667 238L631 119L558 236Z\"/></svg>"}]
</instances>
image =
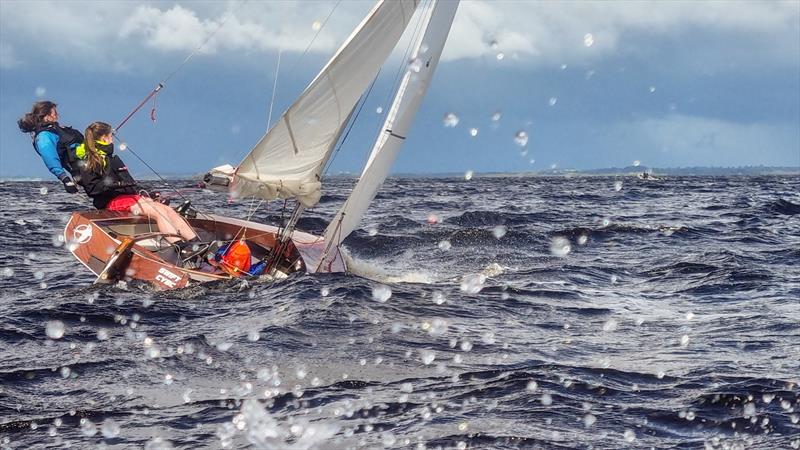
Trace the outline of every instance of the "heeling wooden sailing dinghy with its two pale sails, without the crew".
<instances>
[{"instance_id":1,"label":"heeling wooden sailing dinghy with its two pale sails, without the crew","mask_svg":"<svg viewBox=\"0 0 800 450\"><path fill-rule=\"evenodd\" d=\"M341 245L367 211L411 128L433 77L458 8L458 0L433 0L422 14L423 32L413 40L410 63L353 191L322 236L296 229L303 212L321 196L324 168L361 97L411 22L420 0L380 0L333 57L236 166L212 169L210 185L232 196L293 200L280 226L197 213L187 221L203 241L218 248L244 241L252 263L266 275L345 272ZM160 289L231 279L239 274L187 266L169 237L147 217L114 211L75 212L64 229L68 250L97 283L142 280Z\"/></svg>"}]
</instances>

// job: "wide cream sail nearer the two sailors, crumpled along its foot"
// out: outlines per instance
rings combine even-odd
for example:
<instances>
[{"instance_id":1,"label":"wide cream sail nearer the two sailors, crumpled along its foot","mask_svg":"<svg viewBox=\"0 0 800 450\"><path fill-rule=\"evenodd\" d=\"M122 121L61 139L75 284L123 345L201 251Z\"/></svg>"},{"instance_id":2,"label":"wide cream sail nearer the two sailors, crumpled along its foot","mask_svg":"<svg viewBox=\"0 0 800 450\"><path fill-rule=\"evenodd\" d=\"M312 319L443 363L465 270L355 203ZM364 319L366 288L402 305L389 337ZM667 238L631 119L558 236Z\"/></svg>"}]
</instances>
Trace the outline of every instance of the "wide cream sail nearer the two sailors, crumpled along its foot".
<instances>
[{"instance_id":1,"label":"wide cream sail nearer the two sailors, crumpled along its foot","mask_svg":"<svg viewBox=\"0 0 800 450\"><path fill-rule=\"evenodd\" d=\"M239 164L231 193L314 206L339 130L408 25L419 0L379 1Z\"/></svg>"}]
</instances>

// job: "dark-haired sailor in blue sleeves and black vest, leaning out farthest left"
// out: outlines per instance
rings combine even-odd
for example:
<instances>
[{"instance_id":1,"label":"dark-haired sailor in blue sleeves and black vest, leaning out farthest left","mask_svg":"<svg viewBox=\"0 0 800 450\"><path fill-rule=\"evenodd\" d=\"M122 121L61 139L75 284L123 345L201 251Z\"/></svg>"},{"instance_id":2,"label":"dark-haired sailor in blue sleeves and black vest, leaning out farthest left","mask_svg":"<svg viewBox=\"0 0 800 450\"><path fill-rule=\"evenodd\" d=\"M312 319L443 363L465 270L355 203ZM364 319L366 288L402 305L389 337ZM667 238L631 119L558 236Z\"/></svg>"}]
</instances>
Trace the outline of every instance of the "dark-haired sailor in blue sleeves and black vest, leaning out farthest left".
<instances>
[{"instance_id":1,"label":"dark-haired sailor in blue sleeves and black vest, leaning out farthest left","mask_svg":"<svg viewBox=\"0 0 800 450\"><path fill-rule=\"evenodd\" d=\"M50 173L61 180L67 192L77 194L78 187L73 177L78 178L80 170L76 166L75 148L83 143L83 135L58 124L56 106L50 101L36 102L31 112L17 121L17 125L23 133L32 134L33 148Z\"/></svg>"}]
</instances>

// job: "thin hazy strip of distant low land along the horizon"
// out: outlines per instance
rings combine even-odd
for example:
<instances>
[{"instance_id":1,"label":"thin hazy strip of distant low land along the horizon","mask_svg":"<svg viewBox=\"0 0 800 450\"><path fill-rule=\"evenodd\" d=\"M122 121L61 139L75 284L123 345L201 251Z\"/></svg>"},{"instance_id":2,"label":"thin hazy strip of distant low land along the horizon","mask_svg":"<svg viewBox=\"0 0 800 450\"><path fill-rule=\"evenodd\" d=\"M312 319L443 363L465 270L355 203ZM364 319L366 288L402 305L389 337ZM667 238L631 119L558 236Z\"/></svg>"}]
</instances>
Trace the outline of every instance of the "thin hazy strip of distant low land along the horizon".
<instances>
[{"instance_id":1,"label":"thin hazy strip of distant low land along the horizon","mask_svg":"<svg viewBox=\"0 0 800 450\"><path fill-rule=\"evenodd\" d=\"M599 176L599 177L626 177L636 176L643 172L650 173L655 176L767 176L767 175L800 175L800 167L781 167L781 166L744 166L744 167L645 167L645 166L628 166L628 167L609 167L605 169L548 169L538 171L526 172L474 172L474 177L509 177L509 178L525 178L525 177L565 177L565 176ZM396 173L392 174L390 178L463 178L463 172L444 172L444 173ZM336 173L328 174L328 177L356 177L353 173ZM202 174L167 174L164 179L167 180L197 180L203 178ZM158 180L155 177L142 177L141 180L154 181ZM9 176L0 177L0 182L49 182L57 181L50 177L26 177L26 176Z\"/></svg>"}]
</instances>

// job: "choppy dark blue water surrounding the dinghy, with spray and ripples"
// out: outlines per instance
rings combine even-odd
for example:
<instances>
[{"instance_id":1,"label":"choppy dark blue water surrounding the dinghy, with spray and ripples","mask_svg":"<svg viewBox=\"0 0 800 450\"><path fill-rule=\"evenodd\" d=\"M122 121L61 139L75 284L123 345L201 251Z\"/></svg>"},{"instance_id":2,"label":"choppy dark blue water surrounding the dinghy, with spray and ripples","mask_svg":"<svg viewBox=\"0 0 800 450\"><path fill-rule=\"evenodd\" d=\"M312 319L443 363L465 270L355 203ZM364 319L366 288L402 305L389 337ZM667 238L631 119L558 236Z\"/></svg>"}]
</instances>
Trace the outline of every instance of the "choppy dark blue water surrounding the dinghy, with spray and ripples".
<instances>
[{"instance_id":1,"label":"choppy dark blue water surrounding the dinghy, with spray and ripples","mask_svg":"<svg viewBox=\"0 0 800 450\"><path fill-rule=\"evenodd\" d=\"M392 179L362 276L173 292L91 285L88 205L0 183L2 448L800 447L800 177Z\"/></svg>"}]
</instances>

